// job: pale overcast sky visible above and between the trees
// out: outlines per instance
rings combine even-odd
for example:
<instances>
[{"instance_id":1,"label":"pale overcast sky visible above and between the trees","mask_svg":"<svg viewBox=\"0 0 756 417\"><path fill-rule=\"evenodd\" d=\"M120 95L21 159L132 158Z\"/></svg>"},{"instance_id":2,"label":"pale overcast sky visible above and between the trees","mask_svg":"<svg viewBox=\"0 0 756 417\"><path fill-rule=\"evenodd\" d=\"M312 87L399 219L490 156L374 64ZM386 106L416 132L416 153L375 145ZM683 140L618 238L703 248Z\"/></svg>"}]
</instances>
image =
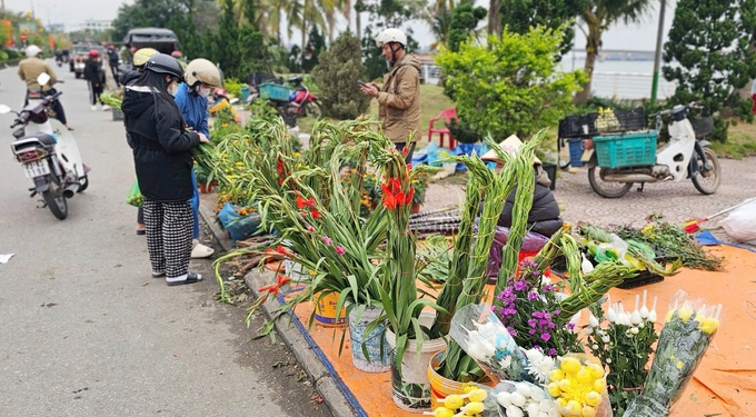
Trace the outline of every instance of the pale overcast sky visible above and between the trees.
<instances>
[{"instance_id":1,"label":"pale overcast sky visible above and between the trees","mask_svg":"<svg viewBox=\"0 0 756 417\"><path fill-rule=\"evenodd\" d=\"M31 10L33 4L34 13L47 23L64 23L66 30L77 30L87 19L112 20L118 14L118 8L122 3L132 3L132 0L4 0L6 9L12 11ZM605 49L629 49L629 50L654 50L656 43L656 31L658 24L658 1L657 7L639 24L625 27L616 26L609 28L604 34ZM477 0L476 3L487 7L488 1ZM672 26L675 13L676 1L668 1L665 18L665 34ZM364 19L364 21L367 19ZM346 21L341 20L342 28ZM420 46L428 46L434 41L427 24L412 24L415 36ZM294 33L294 40L299 40L299 34ZM585 38L578 31L575 47L585 48Z\"/></svg>"}]
</instances>

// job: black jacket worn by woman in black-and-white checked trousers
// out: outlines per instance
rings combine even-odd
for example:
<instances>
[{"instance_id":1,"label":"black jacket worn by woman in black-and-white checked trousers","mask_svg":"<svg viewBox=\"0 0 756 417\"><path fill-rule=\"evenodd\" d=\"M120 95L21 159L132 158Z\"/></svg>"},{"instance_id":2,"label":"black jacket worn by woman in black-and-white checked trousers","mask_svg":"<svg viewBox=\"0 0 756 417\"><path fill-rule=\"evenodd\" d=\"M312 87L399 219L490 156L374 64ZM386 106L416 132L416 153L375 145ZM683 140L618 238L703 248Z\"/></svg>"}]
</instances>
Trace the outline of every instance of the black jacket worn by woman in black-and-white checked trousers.
<instances>
[{"instance_id":1,"label":"black jacket worn by woman in black-and-white checked trousers","mask_svg":"<svg viewBox=\"0 0 756 417\"><path fill-rule=\"evenodd\" d=\"M147 87L126 88L121 110L129 146L142 196L157 201L185 201L195 193L190 149L199 145L199 135L186 130L172 98L167 92L160 95L166 97L153 97Z\"/></svg>"}]
</instances>

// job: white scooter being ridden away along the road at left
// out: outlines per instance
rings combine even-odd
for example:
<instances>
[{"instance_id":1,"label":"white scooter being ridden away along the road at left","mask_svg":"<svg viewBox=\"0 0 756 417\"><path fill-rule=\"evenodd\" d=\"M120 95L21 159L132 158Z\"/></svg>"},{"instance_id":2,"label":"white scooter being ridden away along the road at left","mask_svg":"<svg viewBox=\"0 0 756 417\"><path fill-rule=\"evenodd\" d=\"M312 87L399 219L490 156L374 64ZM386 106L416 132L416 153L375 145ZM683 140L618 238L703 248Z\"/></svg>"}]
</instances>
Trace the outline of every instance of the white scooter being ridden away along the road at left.
<instances>
[{"instance_id":1,"label":"white scooter being ridden away along the road at left","mask_svg":"<svg viewBox=\"0 0 756 417\"><path fill-rule=\"evenodd\" d=\"M40 86L49 81L47 73L37 79ZM18 116L11 129L21 128L13 132L16 140L11 150L23 166L27 178L34 181L34 187L29 189L32 191L30 197L41 193L43 205L63 220L68 217L66 199L89 187L89 168L81 160L73 135L60 121L48 116L48 109L60 95L62 92L46 97L41 91L30 90L29 105L21 112L0 105L0 115L14 112Z\"/></svg>"}]
</instances>

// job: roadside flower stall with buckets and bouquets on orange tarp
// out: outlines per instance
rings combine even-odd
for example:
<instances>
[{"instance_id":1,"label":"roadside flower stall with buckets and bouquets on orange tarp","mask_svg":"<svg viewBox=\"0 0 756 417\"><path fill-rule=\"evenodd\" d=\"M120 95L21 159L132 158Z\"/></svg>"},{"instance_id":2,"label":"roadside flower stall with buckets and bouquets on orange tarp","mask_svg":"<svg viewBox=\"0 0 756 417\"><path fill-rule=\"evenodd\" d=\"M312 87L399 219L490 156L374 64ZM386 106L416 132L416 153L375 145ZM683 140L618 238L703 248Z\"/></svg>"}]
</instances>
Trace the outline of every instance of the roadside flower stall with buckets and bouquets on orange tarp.
<instances>
[{"instance_id":1,"label":"roadside flower stall with buckets and bouquets on orange tarp","mask_svg":"<svg viewBox=\"0 0 756 417\"><path fill-rule=\"evenodd\" d=\"M686 240L655 219L641 230L568 225L523 259L543 132L513 153L488 140L499 171L457 157L469 172L464 205L412 217L432 168L408 167L374 128L319 121L309 149L295 150L280 122L260 121L197 156L219 196L272 234L225 257L272 266L252 310L276 298L272 314L291 315L358 415L747 415L756 364L738 328L753 319L733 302L747 301L736 288L753 255L723 249L727 274L700 248L659 257ZM422 218L452 236L419 240ZM664 280L617 288L644 272Z\"/></svg>"}]
</instances>

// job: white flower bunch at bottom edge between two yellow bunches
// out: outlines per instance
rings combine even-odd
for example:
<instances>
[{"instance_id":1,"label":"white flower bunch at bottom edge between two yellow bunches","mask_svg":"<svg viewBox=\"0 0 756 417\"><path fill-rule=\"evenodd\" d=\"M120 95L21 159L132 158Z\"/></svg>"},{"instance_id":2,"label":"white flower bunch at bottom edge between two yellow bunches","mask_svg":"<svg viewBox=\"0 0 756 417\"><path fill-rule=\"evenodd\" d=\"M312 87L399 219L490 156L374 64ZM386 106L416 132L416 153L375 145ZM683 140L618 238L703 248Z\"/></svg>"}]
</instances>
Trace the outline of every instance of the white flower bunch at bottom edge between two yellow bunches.
<instances>
[{"instance_id":1,"label":"white flower bunch at bottom edge between two yellow bunches","mask_svg":"<svg viewBox=\"0 0 756 417\"><path fill-rule=\"evenodd\" d=\"M496 398L498 416L559 417L551 397L530 383L501 381L491 388L490 395Z\"/></svg>"}]
</instances>

